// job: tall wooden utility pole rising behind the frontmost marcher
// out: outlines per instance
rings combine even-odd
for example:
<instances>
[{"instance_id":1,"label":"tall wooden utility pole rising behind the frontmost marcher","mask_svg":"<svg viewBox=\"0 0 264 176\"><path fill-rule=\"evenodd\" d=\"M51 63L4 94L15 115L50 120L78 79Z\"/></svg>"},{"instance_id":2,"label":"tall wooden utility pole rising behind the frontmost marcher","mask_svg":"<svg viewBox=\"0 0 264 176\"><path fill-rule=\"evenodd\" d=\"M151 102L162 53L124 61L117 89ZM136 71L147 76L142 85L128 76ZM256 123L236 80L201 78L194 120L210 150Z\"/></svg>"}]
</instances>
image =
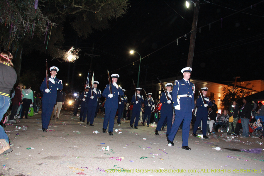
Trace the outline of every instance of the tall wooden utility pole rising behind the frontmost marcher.
<instances>
[{"instance_id":1,"label":"tall wooden utility pole rising behind the frontmost marcher","mask_svg":"<svg viewBox=\"0 0 264 176\"><path fill-rule=\"evenodd\" d=\"M193 60L193 55L194 55L194 46L195 46L196 30L197 30L197 23L198 23L198 13L199 13L199 8L200 8L199 4L200 2L198 0L194 3L192 32L191 32L190 46L189 46L189 53L188 53L188 60L187 60L187 67L191 67L191 68L192 68L192 60Z\"/></svg>"}]
</instances>

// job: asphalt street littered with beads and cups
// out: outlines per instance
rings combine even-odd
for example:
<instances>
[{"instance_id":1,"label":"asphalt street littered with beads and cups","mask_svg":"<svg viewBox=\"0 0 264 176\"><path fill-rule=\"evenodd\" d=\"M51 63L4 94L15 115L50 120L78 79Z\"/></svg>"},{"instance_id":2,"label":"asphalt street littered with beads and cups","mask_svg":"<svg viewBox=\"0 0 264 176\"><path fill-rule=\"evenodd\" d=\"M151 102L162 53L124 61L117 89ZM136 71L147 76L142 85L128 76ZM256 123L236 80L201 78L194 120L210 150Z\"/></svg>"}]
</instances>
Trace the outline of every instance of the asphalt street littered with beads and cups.
<instances>
[{"instance_id":1,"label":"asphalt street littered with beads and cups","mask_svg":"<svg viewBox=\"0 0 264 176\"><path fill-rule=\"evenodd\" d=\"M191 136L190 130L192 150L184 150L180 130L175 146L169 147L166 128L155 135L155 125L139 124L134 129L129 121L117 125L115 119L118 132L109 136L102 133L103 118L98 114L94 126L87 126L72 112L61 111L60 119L51 119L48 132L41 129L41 113L6 125L13 151L0 156L0 175L263 175L264 151L240 151L263 149L264 145L256 143L261 141L258 138L238 138L239 143L232 143L224 141L227 138L222 138L222 133L202 139ZM107 146L109 151L102 150Z\"/></svg>"}]
</instances>

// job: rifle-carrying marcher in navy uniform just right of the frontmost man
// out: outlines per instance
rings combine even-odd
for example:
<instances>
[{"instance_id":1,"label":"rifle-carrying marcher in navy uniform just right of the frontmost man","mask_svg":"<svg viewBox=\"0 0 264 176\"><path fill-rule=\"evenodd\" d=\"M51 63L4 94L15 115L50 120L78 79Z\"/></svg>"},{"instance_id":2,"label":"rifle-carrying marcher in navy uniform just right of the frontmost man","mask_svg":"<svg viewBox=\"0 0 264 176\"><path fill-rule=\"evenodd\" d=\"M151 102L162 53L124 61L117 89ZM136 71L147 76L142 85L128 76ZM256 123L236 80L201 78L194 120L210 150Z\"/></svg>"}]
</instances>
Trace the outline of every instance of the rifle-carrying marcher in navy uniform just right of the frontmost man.
<instances>
[{"instance_id":1,"label":"rifle-carrying marcher in navy uniform just right of the frontmost man","mask_svg":"<svg viewBox=\"0 0 264 176\"><path fill-rule=\"evenodd\" d=\"M207 120L208 120L208 111L207 106L214 107L212 102L209 100L209 97L206 97L208 88L203 87L202 88L202 95L197 97L196 106L197 106L197 112L196 112L196 121L194 123L193 133L192 136L197 137L196 132L199 126L200 121L202 120L202 129L203 129L203 138L207 139L206 136L206 128L207 128ZM203 96L205 103L203 101Z\"/></svg>"}]
</instances>

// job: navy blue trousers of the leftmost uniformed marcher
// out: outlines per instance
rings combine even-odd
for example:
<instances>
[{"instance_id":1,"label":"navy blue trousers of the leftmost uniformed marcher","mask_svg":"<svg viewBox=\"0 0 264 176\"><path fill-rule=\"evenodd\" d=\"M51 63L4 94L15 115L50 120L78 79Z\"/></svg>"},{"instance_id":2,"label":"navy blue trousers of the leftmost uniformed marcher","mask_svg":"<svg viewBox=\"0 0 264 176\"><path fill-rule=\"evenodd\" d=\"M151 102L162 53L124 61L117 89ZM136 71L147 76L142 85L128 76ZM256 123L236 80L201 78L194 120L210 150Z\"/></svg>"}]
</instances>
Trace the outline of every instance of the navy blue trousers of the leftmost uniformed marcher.
<instances>
[{"instance_id":1,"label":"navy blue trousers of the leftmost uniformed marcher","mask_svg":"<svg viewBox=\"0 0 264 176\"><path fill-rule=\"evenodd\" d=\"M50 116L54 108L54 103L42 103L41 123L42 129L48 129L50 123Z\"/></svg>"}]
</instances>

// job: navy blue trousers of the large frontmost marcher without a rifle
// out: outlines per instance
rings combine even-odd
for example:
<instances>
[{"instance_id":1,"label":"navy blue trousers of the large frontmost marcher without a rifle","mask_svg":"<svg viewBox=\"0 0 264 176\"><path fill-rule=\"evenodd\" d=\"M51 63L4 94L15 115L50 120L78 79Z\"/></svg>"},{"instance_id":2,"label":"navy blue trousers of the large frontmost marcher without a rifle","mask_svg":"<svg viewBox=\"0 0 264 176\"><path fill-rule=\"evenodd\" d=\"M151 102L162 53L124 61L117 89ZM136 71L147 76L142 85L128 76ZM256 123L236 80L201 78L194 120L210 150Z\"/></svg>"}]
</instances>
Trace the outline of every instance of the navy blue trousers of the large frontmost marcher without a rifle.
<instances>
[{"instance_id":1,"label":"navy blue trousers of the large frontmost marcher without a rifle","mask_svg":"<svg viewBox=\"0 0 264 176\"><path fill-rule=\"evenodd\" d=\"M189 139L189 131L190 131L190 123L192 120L192 112L180 112L179 110L175 110L175 120L171 127L170 134L168 139L173 141L175 135L182 124L182 146L188 146L188 139Z\"/></svg>"}]
</instances>

